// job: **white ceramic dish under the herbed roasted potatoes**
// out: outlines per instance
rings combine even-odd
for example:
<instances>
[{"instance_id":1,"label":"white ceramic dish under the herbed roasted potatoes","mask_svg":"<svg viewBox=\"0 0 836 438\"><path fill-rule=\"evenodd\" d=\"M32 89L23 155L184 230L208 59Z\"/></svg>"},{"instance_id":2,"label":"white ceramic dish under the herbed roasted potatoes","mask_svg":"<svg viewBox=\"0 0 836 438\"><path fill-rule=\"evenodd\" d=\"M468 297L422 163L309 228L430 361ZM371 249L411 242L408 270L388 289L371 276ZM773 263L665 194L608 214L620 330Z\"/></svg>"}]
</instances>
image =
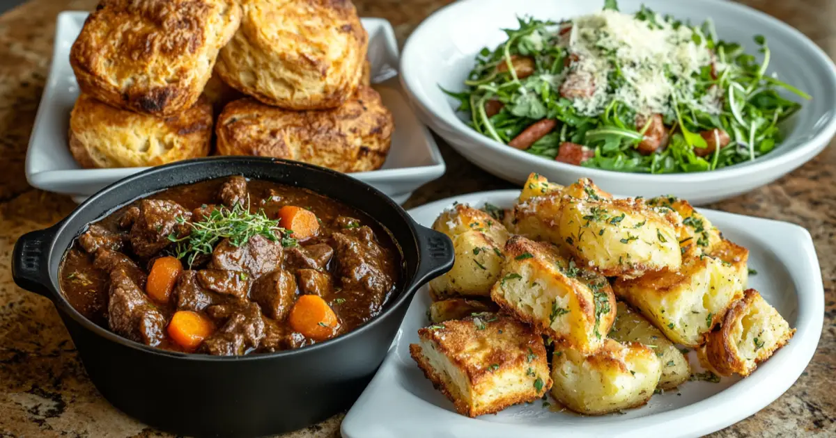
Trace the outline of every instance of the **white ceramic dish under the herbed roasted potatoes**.
<instances>
[{"instance_id":1,"label":"white ceramic dish under the herbed roasted potatoes","mask_svg":"<svg viewBox=\"0 0 836 438\"><path fill-rule=\"evenodd\" d=\"M519 194L502 190L444 199L410 210L419 224L431 226L441 210L456 201L508 207ZM749 249L749 266L758 274L749 286L758 289L797 331L746 379L724 378L720 383L691 381L678 390L654 395L643 407L624 415L584 417L552 412L540 402L517 405L497 415L475 419L456 414L453 405L434 390L410 358L409 345L417 330L428 325L431 301L418 291L406 313L395 343L377 375L346 415L342 431L349 438L408 437L645 437L700 436L746 418L782 395L801 375L821 335L824 290L813 240L798 225L702 210L723 235ZM696 353L689 359L701 370Z\"/></svg>"}]
</instances>

